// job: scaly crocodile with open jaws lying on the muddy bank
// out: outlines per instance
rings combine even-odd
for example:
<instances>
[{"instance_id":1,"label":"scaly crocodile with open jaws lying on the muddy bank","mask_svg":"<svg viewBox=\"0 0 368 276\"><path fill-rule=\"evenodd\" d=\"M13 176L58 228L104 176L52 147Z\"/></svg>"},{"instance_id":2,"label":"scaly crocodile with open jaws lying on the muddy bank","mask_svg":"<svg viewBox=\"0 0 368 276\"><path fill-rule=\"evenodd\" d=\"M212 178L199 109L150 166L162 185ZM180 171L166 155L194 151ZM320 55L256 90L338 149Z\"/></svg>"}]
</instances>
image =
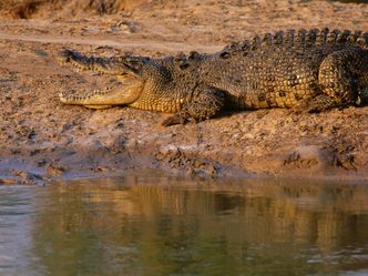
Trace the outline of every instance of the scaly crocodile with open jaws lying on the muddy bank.
<instances>
[{"instance_id":1,"label":"scaly crocodile with open jaws lying on the muddy bank","mask_svg":"<svg viewBox=\"0 0 368 276\"><path fill-rule=\"evenodd\" d=\"M120 82L113 90L61 93L62 103L173 113L163 125L204 121L225 110L321 112L358 106L368 93L368 32L361 31L290 29L212 54L165 58L96 58L62 50L59 62L111 74Z\"/></svg>"}]
</instances>

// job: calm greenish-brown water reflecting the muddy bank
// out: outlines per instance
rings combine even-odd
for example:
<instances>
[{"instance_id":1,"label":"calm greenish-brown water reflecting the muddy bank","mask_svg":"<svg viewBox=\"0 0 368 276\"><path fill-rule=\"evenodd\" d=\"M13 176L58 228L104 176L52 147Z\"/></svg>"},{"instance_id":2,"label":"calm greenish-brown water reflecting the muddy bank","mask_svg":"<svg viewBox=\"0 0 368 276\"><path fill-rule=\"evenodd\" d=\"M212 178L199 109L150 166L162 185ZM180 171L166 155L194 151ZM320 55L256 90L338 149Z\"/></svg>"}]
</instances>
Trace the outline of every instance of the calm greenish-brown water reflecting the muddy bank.
<instances>
[{"instance_id":1,"label":"calm greenish-brown water reflecting the muddy bank","mask_svg":"<svg viewBox=\"0 0 368 276\"><path fill-rule=\"evenodd\" d=\"M0 275L368 275L368 185L0 186Z\"/></svg>"}]
</instances>

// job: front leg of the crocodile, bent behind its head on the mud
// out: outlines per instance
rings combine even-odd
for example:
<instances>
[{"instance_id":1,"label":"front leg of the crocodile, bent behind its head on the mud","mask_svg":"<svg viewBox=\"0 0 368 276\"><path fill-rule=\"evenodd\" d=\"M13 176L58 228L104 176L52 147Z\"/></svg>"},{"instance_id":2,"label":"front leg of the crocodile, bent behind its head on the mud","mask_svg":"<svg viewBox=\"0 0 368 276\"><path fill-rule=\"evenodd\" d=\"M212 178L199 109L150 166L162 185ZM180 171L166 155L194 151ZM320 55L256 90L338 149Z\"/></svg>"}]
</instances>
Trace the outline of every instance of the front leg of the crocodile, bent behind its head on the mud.
<instances>
[{"instance_id":1,"label":"front leg of the crocodile, bent behind its head on the mud","mask_svg":"<svg viewBox=\"0 0 368 276\"><path fill-rule=\"evenodd\" d=\"M217 115L225 106L225 92L215 88L200 85L194 91L192 101L166 119L162 125L185 124L190 120L204 121Z\"/></svg>"}]
</instances>

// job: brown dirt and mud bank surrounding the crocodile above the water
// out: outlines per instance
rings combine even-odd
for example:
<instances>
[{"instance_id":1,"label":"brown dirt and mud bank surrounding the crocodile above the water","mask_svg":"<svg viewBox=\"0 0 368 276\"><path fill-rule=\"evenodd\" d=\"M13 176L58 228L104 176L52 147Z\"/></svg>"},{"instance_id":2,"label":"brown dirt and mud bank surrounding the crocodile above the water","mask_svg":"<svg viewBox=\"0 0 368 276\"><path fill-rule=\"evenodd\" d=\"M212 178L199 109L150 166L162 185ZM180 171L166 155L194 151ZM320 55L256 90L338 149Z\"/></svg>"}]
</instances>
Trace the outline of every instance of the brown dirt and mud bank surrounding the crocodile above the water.
<instances>
[{"instance_id":1,"label":"brown dirt and mud bank surrounding the crocodile above the water","mask_svg":"<svg viewBox=\"0 0 368 276\"><path fill-rule=\"evenodd\" d=\"M368 4L320 0L2 1L0 183L121 175L368 181L368 106L259 110L161 126L163 113L63 105L58 93L113 80L55 62L60 49L112 57L214 52L290 28L368 30Z\"/></svg>"}]
</instances>

